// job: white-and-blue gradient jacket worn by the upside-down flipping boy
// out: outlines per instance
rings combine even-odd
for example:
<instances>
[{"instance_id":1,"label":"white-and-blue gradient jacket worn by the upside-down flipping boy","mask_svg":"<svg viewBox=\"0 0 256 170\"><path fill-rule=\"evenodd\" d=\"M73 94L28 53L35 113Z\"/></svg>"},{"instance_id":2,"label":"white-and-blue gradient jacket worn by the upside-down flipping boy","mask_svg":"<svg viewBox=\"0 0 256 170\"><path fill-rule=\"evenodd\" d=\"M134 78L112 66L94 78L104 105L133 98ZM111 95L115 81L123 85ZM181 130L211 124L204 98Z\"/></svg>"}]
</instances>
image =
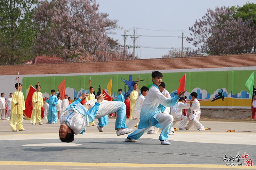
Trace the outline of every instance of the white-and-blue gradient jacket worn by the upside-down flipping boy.
<instances>
[{"instance_id":1,"label":"white-and-blue gradient jacket worn by the upside-down flipping boy","mask_svg":"<svg viewBox=\"0 0 256 170\"><path fill-rule=\"evenodd\" d=\"M60 116L60 124L66 123L74 134L83 134L86 125L95 119L100 103L95 102L94 106L88 110L81 103L81 99L77 98L71 103L63 114Z\"/></svg>"}]
</instances>

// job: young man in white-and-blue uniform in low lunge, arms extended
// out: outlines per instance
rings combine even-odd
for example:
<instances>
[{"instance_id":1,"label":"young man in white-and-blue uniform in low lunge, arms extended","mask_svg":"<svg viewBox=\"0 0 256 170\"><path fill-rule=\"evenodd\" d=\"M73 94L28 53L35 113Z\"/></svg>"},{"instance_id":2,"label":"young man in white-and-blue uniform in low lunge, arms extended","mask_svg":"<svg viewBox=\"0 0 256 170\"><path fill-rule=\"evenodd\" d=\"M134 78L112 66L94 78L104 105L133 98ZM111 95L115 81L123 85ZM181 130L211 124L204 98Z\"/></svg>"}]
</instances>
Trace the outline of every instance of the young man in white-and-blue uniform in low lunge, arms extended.
<instances>
[{"instance_id":1,"label":"young man in white-and-blue uniform in low lunge, arms extended","mask_svg":"<svg viewBox=\"0 0 256 170\"><path fill-rule=\"evenodd\" d=\"M151 76L153 85L150 87L147 97L142 104L138 129L128 135L124 140L125 142L136 142L137 139L147 132L151 126L155 126L157 128L163 128L158 138L162 141L161 144L170 144L168 142L168 135L172 127L173 116L162 112L165 110L165 106L174 106L186 90L184 92L180 92L179 95L176 95L173 98L167 99L158 88L162 82L163 74L159 71L152 71Z\"/></svg>"}]
</instances>

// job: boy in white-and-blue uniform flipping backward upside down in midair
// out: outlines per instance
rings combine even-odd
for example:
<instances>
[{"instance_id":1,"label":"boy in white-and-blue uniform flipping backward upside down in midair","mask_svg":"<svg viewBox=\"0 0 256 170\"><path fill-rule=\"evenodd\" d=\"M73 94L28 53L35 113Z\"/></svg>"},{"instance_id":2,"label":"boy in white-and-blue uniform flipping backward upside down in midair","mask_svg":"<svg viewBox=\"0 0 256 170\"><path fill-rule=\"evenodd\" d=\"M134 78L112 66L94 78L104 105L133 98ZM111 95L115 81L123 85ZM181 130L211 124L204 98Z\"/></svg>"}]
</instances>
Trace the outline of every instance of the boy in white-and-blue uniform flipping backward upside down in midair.
<instances>
[{"instance_id":1,"label":"boy in white-and-blue uniform flipping backward upside down in midair","mask_svg":"<svg viewBox=\"0 0 256 170\"><path fill-rule=\"evenodd\" d=\"M82 93L60 116L59 137L62 142L72 142L74 134L83 134L88 123L95 118L100 118L113 112L117 112L115 128L117 136L132 132L133 129L127 129L125 125L126 107L123 102L104 100L106 99L104 98L106 94L100 94L97 99L89 100L82 105L80 101L87 96L89 95Z\"/></svg>"}]
</instances>

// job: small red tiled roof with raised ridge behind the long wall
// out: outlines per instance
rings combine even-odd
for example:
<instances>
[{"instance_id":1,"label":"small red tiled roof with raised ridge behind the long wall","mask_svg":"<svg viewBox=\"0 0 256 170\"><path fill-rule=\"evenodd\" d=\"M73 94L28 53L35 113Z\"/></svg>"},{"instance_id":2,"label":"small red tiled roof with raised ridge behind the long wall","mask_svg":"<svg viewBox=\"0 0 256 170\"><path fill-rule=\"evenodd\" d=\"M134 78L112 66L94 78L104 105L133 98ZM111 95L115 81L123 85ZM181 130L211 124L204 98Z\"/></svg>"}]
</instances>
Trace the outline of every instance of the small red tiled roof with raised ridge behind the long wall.
<instances>
[{"instance_id":1,"label":"small red tiled roof with raised ridge behind the long wall","mask_svg":"<svg viewBox=\"0 0 256 170\"><path fill-rule=\"evenodd\" d=\"M50 63L68 63L65 60L62 60L59 57L47 57L47 56L36 56L35 58L32 58L26 62L24 62L24 65L30 65L30 64L50 64Z\"/></svg>"}]
</instances>

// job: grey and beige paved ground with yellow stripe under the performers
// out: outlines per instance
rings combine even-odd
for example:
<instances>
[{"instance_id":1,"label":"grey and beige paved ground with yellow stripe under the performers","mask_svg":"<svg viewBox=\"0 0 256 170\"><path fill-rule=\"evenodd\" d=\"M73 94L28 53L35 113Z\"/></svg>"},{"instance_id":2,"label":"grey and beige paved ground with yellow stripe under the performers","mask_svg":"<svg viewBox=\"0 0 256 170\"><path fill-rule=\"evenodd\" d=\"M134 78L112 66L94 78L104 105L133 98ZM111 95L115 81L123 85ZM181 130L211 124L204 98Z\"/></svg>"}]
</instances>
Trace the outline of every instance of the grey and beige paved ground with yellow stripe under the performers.
<instances>
[{"instance_id":1,"label":"grey and beige paved ground with yellow stripe under the performers","mask_svg":"<svg viewBox=\"0 0 256 170\"><path fill-rule=\"evenodd\" d=\"M201 121L212 130L175 131L171 145L161 145L158 136L144 134L137 142L124 142L116 136L115 119L109 119L104 132L87 127L84 135L66 144L58 139L58 124L32 126L23 121L26 132L12 132L9 121L0 121L0 169L256 169L246 166L246 155L256 164L256 123ZM128 122L128 120L127 120ZM97 120L95 120L97 124ZM176 123L174 128L178 127ZM136 129L136 128L134 128ZM236 132L226 132L234 130ZM234 161L223 161L234 157ZM223 159L222 159L223 158ZM238 161L238 162L237 162ZM226 164L239 164L227 166Z\"/></svg>"}]
</instances>

